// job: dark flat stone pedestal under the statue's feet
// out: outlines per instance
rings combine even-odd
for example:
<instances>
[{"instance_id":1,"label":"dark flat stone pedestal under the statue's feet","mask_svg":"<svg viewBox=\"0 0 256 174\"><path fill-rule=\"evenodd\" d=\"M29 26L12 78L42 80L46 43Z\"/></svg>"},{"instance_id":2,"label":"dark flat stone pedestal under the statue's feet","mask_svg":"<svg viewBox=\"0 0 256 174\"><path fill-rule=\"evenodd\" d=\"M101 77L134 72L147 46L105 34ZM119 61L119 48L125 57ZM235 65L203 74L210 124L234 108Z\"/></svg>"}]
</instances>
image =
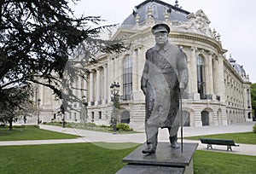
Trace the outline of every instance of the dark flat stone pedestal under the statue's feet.
<instances>
[{"instance_id":1,"label":"dark flat stone pedestal under the statue's feet","mask_svg":"<svg viewBox=\"0 0 256 174\"><path fill-rule=\"evenodd\" d=\"M155 154L143 154L146 147L144 143L123 159L128 163L117 174L141 174L141 173L193 173L193 155L197 143L183 143L181 148L171 148L170 142L159 142Z\"/></svg>"}]
</instances>

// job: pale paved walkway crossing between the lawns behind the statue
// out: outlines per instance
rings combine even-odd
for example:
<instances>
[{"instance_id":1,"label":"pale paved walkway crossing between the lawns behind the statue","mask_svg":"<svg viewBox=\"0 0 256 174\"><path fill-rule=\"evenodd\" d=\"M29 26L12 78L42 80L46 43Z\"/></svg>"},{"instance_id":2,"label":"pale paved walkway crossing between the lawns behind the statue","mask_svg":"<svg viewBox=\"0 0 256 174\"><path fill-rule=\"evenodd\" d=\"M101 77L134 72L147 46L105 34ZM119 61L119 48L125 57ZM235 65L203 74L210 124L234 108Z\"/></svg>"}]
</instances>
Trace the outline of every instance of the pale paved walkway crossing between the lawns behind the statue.
<instances>
[{"instance_id":1,"label":"pale paved walkway crossing between the lawns behind the statue","mask_svg":"<svg viewBox=\"0 0 256 174\"><path fill-rule=\"evenodd\" d=\"M234 132L246 132L252 131L255 122L239 123L233 125L219 125L219 126L204 126L204 127L184 127L183 136L201 136L209 134L220 134L220 133L234 133ZM146 141L145 133L136 134L116 134L99 131L87 131L79 130L74 128L61 128L52 125L40 125L41 129L49 131L58 131L67 134L73 134L81 136L76 139L61 139L61 140L34 140L34 141L5 141L0 142L0 146L11 146L11 145L32 145L32 144L55 144L55 143L78 143L78 142L137 142L143 143ZM178 133L180 135L180 132ZM168 132L166 129L160 130L159 142L168 142ZM201 144L199 141L183 140L183 142L196 142L198 148L201 150L207 150L206 144ZM97 143L96 143L97 144ZM98 144L97 144L98 145ZM212 145L214 152L225 152L233 154L247 154L256 156L256 145L239 144L240 147L232 148L232 152L226 151L226 146ZM109 147L108 147L109 148Z\"/></svg>"}]
</instances>

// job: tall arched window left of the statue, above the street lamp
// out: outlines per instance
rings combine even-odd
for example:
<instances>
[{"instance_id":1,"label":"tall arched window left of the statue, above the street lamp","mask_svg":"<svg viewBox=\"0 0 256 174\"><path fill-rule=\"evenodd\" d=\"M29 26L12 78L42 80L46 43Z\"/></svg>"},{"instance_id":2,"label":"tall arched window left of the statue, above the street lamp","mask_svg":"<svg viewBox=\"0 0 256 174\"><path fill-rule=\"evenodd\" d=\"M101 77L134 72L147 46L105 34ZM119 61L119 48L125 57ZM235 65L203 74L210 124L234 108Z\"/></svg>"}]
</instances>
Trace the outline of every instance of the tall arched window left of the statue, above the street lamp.
<instances>
[{"instance_id":1,"label":"tall arched window left of the statue, above the street lamp","mask_svg":"<svg viewBox=\"0 0 256 174\"><path fill-rule=\"evenodd\" d=\"M125 55L123 70L123 100L130 101L132 94L132 61L131 55Z\"/></svg>"}]
</instances>

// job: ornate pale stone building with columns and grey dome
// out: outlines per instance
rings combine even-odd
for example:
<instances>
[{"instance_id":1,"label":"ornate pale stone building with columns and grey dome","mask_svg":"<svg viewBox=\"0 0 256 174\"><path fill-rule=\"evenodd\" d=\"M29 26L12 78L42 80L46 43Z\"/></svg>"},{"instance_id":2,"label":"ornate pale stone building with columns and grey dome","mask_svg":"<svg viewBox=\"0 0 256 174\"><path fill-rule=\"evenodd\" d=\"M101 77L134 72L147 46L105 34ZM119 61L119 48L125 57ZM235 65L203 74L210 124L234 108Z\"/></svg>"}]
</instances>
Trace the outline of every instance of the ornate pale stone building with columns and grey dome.
<instances>
[{"instance_id":1,"label":"ornate pale stone building with columns and grey dome","mask_svg":"<svg viewBox=\"0 0 256 174\"><path fill-rule=\"evenodd\" d=\"M183 99L185 125L227 125L252 120L248 75L231 56L225 57L227 50L222 48L220 35L209 27L207 15L202 10L189 13L177 4L146 0L136 6L110 38L124 40L130 49L120 54L99 54L96 64L84 67L90 71L88 80L79 79L77 85L87 90L78 93L89 103L87 122L109 124L113 109L109 86L117 82L120 121L135 129L143 128L145 102L140 78L145 52L154 46L151 27L160 22L170 26L170 42L183 49L189 67L188 97ZM42 108L47 106L45 100ZM53 114L54 111L51 118ZM66 115L67 121L83 119L79 112Z\"/></svg>"}]
</instances>

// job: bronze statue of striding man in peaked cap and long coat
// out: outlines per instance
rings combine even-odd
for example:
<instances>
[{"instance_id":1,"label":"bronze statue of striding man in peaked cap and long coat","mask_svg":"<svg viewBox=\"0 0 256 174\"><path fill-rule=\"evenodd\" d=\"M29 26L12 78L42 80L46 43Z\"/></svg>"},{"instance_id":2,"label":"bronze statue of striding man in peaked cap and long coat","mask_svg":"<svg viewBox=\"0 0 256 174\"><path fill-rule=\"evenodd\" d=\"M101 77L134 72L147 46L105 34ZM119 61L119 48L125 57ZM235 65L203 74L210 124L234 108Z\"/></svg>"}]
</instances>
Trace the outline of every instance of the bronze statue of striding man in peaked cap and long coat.
<instances>
[{"instance_id":1,"label":"bronze statue of striding man in peaked cap and long coat","mask_svg":"<svg viewBox=\"0 0 256 174\"><path fill-rule=\"evenodd\" d=\"M172 148L179 148L177 131L179 98L189 81L183 51L168 42L169 26L152 27L155 46L146 52L141 89L146 96L145 131L147 147L143 154L154 154L159 128L168 128Z\"/></svg>"}]
</instances>

